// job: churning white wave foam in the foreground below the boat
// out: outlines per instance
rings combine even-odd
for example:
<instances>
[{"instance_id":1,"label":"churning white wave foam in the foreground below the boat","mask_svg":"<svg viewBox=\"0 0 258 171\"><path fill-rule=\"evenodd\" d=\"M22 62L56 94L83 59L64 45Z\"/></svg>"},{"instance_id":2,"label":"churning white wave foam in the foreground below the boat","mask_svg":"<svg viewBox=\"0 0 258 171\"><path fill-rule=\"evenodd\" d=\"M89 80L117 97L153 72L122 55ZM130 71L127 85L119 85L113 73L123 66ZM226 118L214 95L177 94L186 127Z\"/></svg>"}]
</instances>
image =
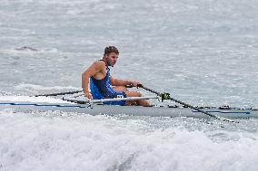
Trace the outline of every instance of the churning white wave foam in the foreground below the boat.
<instances>
[{"instance_id":1,"label":"churning white wave foam in the foreground below the boat","mask_svg":"<svg viewBox=\"0 0 258 171\"><path fill-rule=\"evenodd\" d=\"M53 113L52 113L53 114ZM58 114L58 113L56 113ZM255 170L258 142L144 120L0 112L4 170ZM219 131L219 130L218 130ZM256 135L257 136L257 135Z\"/></svg>"}]
</instances>

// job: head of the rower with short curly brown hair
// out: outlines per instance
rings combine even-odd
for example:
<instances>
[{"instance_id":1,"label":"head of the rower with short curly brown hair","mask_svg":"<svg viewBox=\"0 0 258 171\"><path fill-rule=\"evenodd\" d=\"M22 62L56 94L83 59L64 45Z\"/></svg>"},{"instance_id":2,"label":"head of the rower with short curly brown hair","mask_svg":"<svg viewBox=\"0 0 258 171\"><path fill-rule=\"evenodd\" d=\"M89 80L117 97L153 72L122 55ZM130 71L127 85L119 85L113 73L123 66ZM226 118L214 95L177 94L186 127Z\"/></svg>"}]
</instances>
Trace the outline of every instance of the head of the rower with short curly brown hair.
<instances>
[{"instance_id":1,"label":"head of the rower with short curly brown hair","mask_svg":"<svg viewBox=\"0 0 258 171\"><path fill-rule=\"evenodd\" d=\"M104 62L106 62L108 66L114 67L114 64L117 61L118 55L119 55L119 52L116 47L108 46L104 48L103 58L104 58Z\"/></svg>"}]
</instances>

